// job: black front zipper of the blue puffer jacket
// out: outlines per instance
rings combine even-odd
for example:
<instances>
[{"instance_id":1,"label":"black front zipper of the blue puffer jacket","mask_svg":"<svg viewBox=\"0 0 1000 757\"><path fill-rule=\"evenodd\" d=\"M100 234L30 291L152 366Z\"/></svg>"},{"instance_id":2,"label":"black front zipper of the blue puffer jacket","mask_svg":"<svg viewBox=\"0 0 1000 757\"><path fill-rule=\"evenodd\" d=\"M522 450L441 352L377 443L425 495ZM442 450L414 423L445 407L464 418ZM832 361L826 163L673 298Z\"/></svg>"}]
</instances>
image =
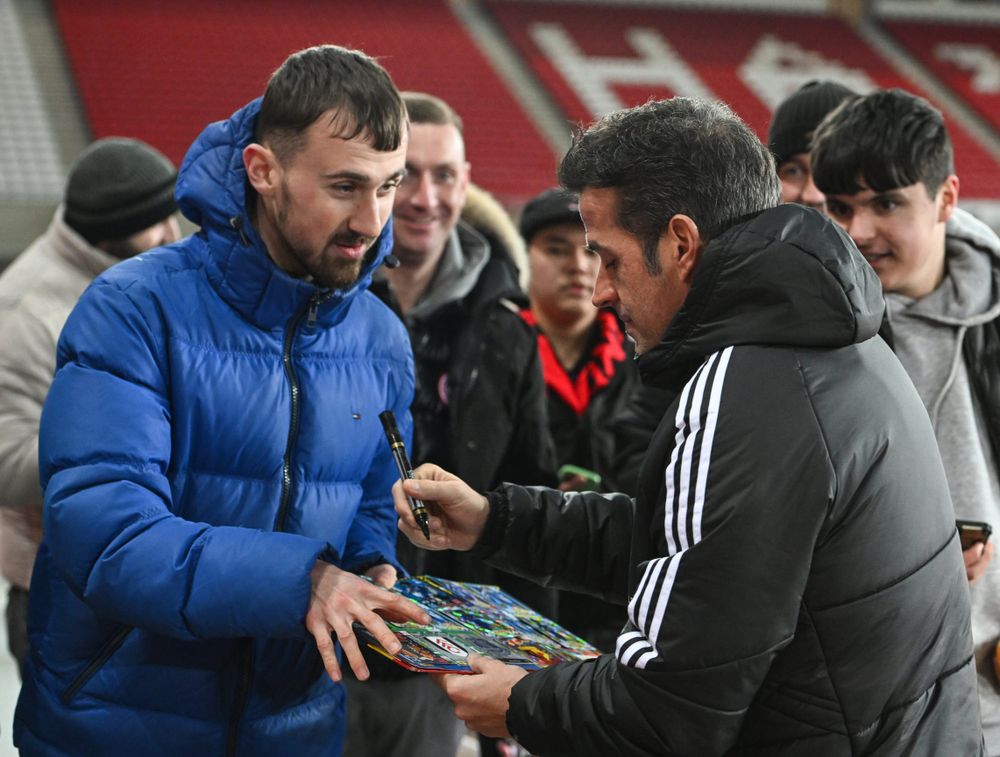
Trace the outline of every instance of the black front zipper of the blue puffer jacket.
<instances>
[{"instance_id":1,"label":"black front zipper of the blue puffer jacket","mask_svg":"<svg viewBox=\"0 0 1000 757\"><path fill-rule=\"evenodd\" d=\"M295 375L295 368L292 365L292 345L295 341L295 333L303 317L307 317L310 327L316 324L316 316L319 306L330 297L333 292L317 292L309 298L305 307L299 310L292 320L288 322L285 329L285 339L281 348L281 364L285 369L285 378L291 393L292 411L288 423L288 439L285 442L285 455L281 464L281 500L278 506L278 515L274 521L275 531L285 530L285 520L288 518L288 507L292 498L292 447L299 433L299 382ZM247 699L250 695L250 681L253 675L253 640L244 639L240 650L240 677L239 688L236 692L236 705L233 708L232 717L229 719L229 735L227 738L226 754L229 757L236 755L236 738L239 734L240 719L243 717L243 710L246 708Z\"/></svg>"}]
</instances>

